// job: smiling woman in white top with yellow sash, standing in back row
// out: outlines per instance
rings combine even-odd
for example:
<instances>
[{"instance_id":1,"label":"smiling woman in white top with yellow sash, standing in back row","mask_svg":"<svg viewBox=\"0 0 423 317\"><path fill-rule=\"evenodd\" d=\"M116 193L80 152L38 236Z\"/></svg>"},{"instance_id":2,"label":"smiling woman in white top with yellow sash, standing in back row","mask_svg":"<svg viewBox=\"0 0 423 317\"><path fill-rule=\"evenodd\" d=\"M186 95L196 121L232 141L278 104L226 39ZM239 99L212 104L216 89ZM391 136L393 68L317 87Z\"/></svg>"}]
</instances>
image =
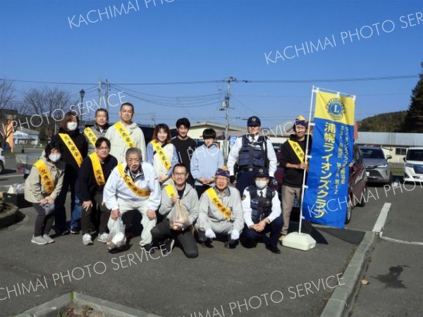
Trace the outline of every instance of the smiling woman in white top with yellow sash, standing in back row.
<instances>
[{"instance_id":1,"label":"smiling woman in white top with yellow sash, standing in back row","mask_svg":"<svg viewBox=\"0 0 423 317\"><path fill-rule=\"evenodd\" d=\"M171 184L173 166L178 163L178 156L171 143L168 125L159 123L154 128L153 139L147 144L147 162L154 167L161 186Z\"/></svg>"}]
</instances>

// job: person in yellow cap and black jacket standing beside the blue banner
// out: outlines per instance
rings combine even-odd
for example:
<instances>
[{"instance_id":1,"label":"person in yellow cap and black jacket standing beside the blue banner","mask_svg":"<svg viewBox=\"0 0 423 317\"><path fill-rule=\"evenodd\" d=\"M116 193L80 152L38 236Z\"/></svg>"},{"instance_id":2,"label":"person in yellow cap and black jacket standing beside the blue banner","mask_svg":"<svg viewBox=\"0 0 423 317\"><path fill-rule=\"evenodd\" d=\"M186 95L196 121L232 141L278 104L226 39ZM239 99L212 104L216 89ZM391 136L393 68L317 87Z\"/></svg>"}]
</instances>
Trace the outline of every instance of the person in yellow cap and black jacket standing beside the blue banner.
<instances>
[{"instance_id":1,"label":"person in yellow cap and black jacket standing beside the blue banner","mask_svg":"<svg viewBox=\"0 0 423 317\"><path fill-rule=\"evenodd\" d=\"M301 188L304 173L308 168L305 157L312 148L312 137L309 135L308 150L306 151L307 139L305 137L307 130L307 122L304 117L299 116L295 119L293 135L290 135L288 141L282 144L281 159L279 164L283 167L283 180L282 180L282 216L283 228L279 241L282 242L283 238L288 234L290 213L293 209L293 202L295 195L297 196L298 203L301 201Z\"/></svg>"}]
</instances>

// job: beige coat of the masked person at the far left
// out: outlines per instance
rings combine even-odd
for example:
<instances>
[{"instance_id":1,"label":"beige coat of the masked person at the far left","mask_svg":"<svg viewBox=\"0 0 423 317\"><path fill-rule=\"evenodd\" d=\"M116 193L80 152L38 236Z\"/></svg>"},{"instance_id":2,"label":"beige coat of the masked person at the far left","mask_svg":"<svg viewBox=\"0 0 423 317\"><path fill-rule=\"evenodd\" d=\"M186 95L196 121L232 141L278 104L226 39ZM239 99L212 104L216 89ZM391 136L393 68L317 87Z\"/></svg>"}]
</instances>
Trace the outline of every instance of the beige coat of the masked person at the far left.
<instances>
[{"instance_id":1,"label":"beige coat of the masked person at the far left","mask_svg":"<svg viewBox=\"0 0 423 317\"><path fill-rule=\"evenodd\" d=\"M25 199L31 203L39 203L39 201L45 197L56 199L61 191L63 177L65 175L65 163L62 161L55 164L48 161L45 156L42 156L40 160L42 160L49 169L51 178L54 182L54 189L51 194L47 194L46 187L44 187L44 183L39 176L38 169L35 166L32 166L30 175L25 181Z\"/></svg>"}]
</instances>

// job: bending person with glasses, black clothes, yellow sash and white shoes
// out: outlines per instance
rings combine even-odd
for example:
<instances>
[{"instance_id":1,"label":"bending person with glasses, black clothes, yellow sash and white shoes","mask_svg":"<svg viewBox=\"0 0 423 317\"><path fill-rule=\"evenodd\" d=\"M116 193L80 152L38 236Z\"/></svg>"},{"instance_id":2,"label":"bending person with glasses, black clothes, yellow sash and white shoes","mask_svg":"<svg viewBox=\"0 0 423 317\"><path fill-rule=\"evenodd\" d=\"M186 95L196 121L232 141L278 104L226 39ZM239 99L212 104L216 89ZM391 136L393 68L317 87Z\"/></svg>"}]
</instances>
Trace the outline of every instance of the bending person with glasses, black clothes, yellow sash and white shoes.
<instances>
[{"instance_id":1,"label":"bending person with glasses, black clothes, yellow sash and white shoes","mask_svg":"<svg viewBox=\"0 0 423 317\"><path fill-rule=\"evenodd\" d=\"M109 179L118 161L109 154L110 142L105 137L99 137L95 142L95 152L82 161L80 173L76 182L75 191L82 202L82 243L92 244L92 235L97 231L93 218L100 213L99 221L99 242L107 241L107 221L110 211L104 206L103 190L106 181ZM94 210L94 213L92 212Z\"/></svg>"}]
</instances>

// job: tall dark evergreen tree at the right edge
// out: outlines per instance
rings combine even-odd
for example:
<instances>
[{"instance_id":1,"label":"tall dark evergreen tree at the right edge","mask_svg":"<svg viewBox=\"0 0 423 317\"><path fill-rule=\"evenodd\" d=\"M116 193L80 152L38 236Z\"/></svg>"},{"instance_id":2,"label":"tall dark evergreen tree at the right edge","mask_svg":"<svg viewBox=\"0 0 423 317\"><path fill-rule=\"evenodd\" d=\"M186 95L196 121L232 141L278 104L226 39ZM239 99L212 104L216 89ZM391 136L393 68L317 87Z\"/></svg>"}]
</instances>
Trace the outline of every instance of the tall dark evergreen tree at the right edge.
<instances>
[{"instance_id":1,"label":"tall dark evergreen tree at the right edge","mask_svg":"<svg viewBox=\"0 0 423 317\"><path fill-rule=\"evenodd\" d=\"M423 68L423 63L421 64ZM423 71L417 85L412 89L411 104L404 120L404 132L423 133Z\"/></svg>"}]
</instances>

